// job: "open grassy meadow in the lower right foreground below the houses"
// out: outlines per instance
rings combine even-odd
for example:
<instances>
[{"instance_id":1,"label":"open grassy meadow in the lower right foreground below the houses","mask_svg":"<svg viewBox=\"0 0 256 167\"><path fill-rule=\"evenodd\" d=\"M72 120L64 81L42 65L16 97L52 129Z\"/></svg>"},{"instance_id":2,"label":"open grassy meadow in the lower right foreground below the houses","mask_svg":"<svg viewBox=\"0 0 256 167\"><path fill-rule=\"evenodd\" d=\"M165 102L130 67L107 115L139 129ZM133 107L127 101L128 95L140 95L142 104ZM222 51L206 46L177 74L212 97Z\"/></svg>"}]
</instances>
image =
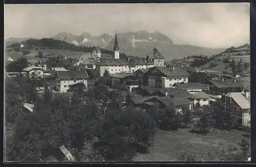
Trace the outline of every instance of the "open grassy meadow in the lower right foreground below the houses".
<instances>
[{"instance_id":1,"label":"open grassy meadow in the lower right foreground below the houses","mask_svg":"<svg viewBox=\"0 0 256 167\"><path fill-rule=\"evenodd\" d=\"M139 154L134 161L177 161L182 152L192 155L208 154L238 147L244 132L238 130L221 131L213 130L206 135L195 134L187 129L178 131L163 131L157 129L155 140L150 148L150 153ZM218 159L212 159L218 160Z\"/></svg>"}]
</instances>

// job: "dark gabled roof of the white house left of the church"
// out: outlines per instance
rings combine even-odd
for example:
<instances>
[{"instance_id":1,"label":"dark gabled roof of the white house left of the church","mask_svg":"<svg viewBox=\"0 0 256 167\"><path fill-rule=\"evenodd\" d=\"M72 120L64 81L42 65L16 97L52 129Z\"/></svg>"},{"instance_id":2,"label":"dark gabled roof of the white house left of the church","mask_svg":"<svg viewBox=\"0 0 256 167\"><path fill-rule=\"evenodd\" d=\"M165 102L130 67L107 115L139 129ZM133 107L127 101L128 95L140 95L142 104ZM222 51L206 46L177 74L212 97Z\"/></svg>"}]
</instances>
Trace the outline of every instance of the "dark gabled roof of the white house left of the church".
<instances>
[{"instance_id":1,"label":"dark gabled roof of the white house left of the church","mask_svg":"<svg viewBox=\"0 0 256 167\"><path fill-rule=\"evenodd\" d=\"M82 79L89 78L86 71L57 71L60 79Z\"/></svg>"}]
</instances>

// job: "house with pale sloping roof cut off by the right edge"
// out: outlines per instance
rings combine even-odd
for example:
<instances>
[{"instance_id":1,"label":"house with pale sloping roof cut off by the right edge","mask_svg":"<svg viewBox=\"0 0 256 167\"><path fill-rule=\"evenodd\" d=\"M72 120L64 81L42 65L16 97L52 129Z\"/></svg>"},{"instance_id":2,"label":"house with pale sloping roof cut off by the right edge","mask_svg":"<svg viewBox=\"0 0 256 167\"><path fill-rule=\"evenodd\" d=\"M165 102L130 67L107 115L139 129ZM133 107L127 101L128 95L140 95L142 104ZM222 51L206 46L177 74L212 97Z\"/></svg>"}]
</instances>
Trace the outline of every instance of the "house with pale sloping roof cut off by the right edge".
<instances>
[{"instance_id":1,"label":"house with pale sloping roof cut off by the right edge","mask_svg":"<svg viewBox=\"0 0 256 167\"><path fill-rule=\"evenodd\" d=\"M232 92L221 98L221 102L225 105L226 111L237 116L241 126L250 126L251 108L250 108L250 92Z\"/></svg>"}]
</instances>

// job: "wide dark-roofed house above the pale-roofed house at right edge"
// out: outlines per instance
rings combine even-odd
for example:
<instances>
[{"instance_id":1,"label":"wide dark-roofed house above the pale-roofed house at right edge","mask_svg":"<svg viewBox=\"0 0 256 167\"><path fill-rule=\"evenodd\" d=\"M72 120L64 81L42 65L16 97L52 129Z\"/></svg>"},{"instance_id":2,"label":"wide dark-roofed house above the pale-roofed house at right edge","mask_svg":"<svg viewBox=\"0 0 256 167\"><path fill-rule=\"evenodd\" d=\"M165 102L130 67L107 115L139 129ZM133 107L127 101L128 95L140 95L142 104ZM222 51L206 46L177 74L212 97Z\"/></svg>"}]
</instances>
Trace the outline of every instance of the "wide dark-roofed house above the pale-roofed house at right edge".
<instances>
[{"instance_id":1,"label":"wide dark-roofed house above the pale-roofed house at right edge","mask_svg":"<svg viewBox=\"0 0 256 167\"><path fill-rule=\"evenodd\" d=\"M225 95L228 92L242 92L243 86L236 79L204 79L203 90L212 95Z\"/></svg>"}]
</instances>

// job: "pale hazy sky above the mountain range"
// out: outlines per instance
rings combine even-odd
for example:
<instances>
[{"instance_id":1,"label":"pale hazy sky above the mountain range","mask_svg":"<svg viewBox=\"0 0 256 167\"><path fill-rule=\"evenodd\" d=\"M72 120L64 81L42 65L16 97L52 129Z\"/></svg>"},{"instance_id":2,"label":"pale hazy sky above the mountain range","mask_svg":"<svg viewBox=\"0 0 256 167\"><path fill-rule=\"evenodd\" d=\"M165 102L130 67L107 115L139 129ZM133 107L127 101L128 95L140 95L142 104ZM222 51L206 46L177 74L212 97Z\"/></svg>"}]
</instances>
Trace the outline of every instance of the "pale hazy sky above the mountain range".
<instances>
[{"instance_id":1,"label":"pale hazy sky above the mountain range","mask_svg":"<svg viewBox=\"0 0 256 167\"><path fill-rule=\"evenodd\" d=\"M145 30L175 44L239 46L250 41L249 3L5 5L5 39Z\"/></svg>"}]
</instances>

